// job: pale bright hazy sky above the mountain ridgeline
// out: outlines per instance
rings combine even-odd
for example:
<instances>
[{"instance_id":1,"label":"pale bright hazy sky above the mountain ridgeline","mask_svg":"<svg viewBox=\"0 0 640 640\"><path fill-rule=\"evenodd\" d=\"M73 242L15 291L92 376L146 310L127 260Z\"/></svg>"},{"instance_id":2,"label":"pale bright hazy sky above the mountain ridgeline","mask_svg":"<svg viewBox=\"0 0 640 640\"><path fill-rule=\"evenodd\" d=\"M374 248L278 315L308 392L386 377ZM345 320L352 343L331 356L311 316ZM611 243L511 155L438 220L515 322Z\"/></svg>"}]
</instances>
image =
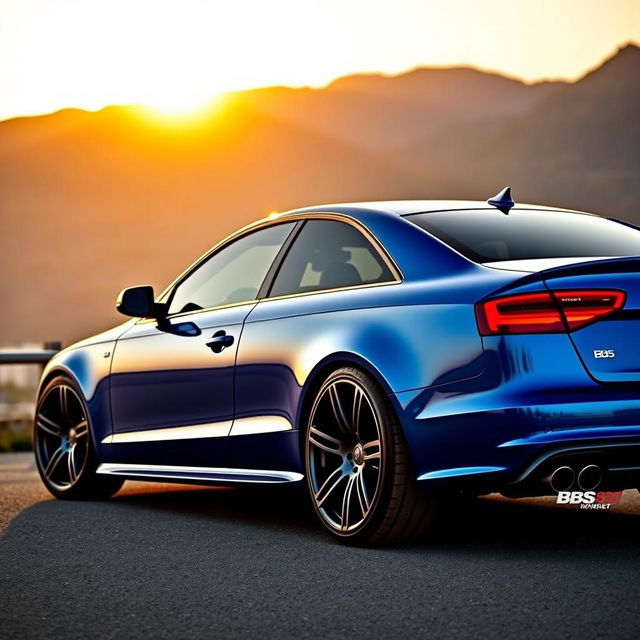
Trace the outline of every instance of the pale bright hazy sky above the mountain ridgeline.
<instances>
[{"instance_id":1,"label":"pale bright hazy sky above the mountain ridgeline","mask_svg":"<svg viewBox=\"0 0 640 640\"><path fill-rule=\"evenodd\" d=\"M640 0L0 0L0 119L356 71L576 78L640 42Z\"/></svg>"}]
</instances>

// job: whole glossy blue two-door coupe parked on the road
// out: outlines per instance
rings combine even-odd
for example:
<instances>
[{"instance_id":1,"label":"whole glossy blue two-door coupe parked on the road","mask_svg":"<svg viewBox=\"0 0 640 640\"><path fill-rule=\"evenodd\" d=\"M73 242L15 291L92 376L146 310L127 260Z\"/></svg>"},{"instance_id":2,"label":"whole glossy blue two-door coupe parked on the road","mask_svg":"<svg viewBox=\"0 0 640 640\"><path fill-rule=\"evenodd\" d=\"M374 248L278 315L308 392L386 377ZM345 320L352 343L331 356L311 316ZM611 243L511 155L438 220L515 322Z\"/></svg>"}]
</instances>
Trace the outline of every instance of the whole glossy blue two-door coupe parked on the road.
<instances>
[{"instance_id":1,"label":"whole glossy blue two-door coupe parked on the road","mask_svg":"<svg viewBox=\"0 0 640 640\"><path fill-rule=\"evenodd\" d=\"M640 231L487 202L272 215L46 367L59 498L125 479L306 483L336 538L421 536L443 497L640 486Z\"/></svg>"}]
</instances>

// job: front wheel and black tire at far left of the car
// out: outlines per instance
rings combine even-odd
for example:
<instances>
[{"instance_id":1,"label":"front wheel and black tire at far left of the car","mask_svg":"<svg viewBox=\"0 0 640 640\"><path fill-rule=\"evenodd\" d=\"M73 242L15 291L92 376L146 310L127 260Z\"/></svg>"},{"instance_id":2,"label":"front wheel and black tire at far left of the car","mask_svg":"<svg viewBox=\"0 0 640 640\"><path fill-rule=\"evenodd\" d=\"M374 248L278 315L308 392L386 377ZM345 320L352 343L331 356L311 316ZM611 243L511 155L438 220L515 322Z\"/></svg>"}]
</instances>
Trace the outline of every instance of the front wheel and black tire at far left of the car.
<instances>
[{"instance_id":1,"label":"front wheel and black tire at far left of the car","mask_svg":"<svg viewBox=\"0 0 640 640\"><path fill-rule=\"evenodd\" d=\"M96 473L89 410L82 391L66 376L53 378L38 397L33 448L40 478L56 498L103 500L124 483Z\"/></svg>"}]
</instances>

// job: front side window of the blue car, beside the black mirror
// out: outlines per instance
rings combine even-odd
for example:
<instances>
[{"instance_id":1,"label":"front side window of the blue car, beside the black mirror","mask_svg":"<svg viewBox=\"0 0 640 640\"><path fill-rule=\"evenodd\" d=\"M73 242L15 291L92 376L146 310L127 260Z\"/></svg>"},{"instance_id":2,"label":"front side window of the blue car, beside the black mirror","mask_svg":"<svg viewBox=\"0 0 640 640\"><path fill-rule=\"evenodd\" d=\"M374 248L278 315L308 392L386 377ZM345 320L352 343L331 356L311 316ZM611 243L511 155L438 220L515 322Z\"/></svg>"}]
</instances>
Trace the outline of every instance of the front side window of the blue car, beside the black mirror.
<instances>
[{"instance_id":1,"label":"front side window of the blue car, beside the black mirror","mask_svg":"<svg viewBox=\"0 0 640 640\"><path fill-rule=\"evenodd\" d=\"M294 225L259 229L220 249L175 288L169 313L254 300Z\"/></svg>"}]
</instances>

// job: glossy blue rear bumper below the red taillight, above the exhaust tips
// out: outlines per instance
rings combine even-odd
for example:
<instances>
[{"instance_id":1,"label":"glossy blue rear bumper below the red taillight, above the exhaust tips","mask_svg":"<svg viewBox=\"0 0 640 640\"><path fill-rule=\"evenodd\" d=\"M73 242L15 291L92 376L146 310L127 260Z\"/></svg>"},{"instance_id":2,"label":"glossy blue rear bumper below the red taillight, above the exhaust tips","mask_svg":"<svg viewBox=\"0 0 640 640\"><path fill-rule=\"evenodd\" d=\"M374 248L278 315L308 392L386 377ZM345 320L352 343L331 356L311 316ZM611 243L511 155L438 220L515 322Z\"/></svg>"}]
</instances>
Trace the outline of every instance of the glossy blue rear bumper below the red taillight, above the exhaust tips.
<instances>
[{"instance_id":1,"label":"glossy blue rear bumper below the red taillight, above the exhaust tips","mask_svg":"<svg viewBox=\"0 0 640 640\"><path fill-rule=\"evenodd\" d=\"M525 487L545 460L574 451L601 458L608 475L637 475L640 384L596 382L565 334L483 344L480 375L393 396L422 484Z\"/></svg>"}]
</instances>

